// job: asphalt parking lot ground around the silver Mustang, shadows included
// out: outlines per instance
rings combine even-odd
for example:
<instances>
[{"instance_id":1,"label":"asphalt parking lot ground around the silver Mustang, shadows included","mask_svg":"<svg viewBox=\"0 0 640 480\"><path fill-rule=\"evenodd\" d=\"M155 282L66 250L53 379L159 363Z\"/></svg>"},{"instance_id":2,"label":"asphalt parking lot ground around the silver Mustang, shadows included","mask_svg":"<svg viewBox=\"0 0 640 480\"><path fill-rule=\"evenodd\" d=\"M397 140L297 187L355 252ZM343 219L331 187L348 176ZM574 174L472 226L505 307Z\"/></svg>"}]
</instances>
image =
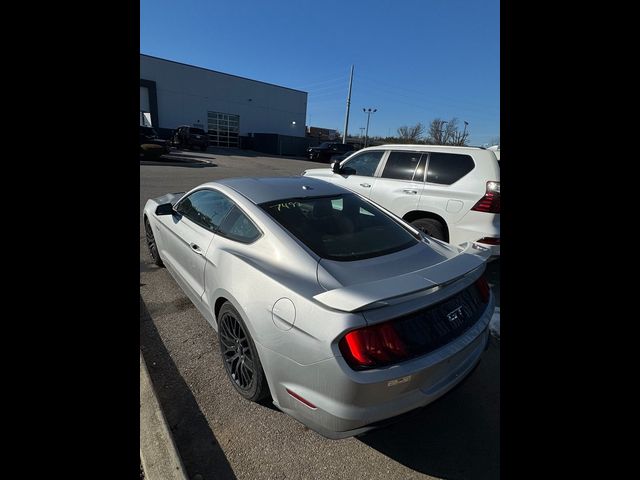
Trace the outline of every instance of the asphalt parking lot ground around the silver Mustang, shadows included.
<instances>
[{"instance_id":1,"label":"asphalt parking lot ground around the silver Mustang, shadows included","mask_svg":"<svg viewBox=\"0 0 640 480\"><path fill-rule=\"evenodd\" d=\"M140 160L140 345L189 478L499 478L498 340L460 386L412 418L328 440L235 392L216 333L166 269L151 262L142 224L148 198L220 178L298 175L321 166L223 149ZM499 261L489 264L487 278L499 305Z\"/></svg>"}]
</instances>

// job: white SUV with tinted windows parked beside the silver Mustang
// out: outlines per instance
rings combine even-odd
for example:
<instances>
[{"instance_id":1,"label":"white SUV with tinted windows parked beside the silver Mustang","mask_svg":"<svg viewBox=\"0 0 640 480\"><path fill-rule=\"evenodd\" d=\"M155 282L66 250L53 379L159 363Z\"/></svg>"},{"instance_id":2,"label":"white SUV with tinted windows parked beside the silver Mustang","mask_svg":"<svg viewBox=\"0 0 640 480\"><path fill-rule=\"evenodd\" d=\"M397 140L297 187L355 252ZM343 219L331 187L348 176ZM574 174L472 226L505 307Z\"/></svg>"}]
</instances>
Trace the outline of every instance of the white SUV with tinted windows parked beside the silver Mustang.
<instances>
[{"instance_id":1,"label":"white SUV with tinted windows parked beside the silver Mustang","mask_svg":"<svg viewBox=\"0 0 640 480\"><path fill-rule=\"evenodd\" d=\"M432 237L500 255L500 165L491 150L381 145L303 175L353 190Z\"/></svg>"}]
</instances>

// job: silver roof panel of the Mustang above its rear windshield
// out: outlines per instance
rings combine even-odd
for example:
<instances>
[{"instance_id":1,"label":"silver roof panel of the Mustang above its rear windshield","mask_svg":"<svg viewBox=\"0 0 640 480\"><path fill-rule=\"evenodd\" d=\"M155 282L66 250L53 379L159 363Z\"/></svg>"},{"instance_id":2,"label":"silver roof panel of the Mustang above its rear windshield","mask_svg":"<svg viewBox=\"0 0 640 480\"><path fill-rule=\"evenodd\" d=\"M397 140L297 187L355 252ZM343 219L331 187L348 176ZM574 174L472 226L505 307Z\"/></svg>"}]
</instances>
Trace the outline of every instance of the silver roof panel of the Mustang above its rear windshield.
<instances>
[{"instance_id":1,"label":"silver roof panel of the Mustang above its rear windshield","mask_svg":"<svg viewBox=\"0 0 640 480\"><path fill-rule=\"evenodd\" d=\"M311 177L245 177L225 178L211 182L225 185L244 195L255 204L287 198L319 197L350 193L342 187Z\"/></svg>"}]
</instances>

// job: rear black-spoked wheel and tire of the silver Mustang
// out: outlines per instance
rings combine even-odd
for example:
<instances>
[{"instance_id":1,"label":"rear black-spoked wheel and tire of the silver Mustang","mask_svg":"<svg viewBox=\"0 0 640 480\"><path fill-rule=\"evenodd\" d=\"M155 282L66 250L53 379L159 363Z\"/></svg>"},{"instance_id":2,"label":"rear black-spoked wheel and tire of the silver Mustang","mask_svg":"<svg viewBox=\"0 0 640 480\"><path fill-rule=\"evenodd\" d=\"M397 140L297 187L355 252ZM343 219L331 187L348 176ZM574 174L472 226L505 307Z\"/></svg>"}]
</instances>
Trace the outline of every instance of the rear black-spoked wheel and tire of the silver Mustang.
<instances>
[{"instance_id":1,"label":"rear black-spoked wheel and tire of the silver Mustang","mask_svg":"<svg viewBox=\"0 0 640 480\"><path fill-rule=\"evenodd\" d=\"M242 317L229 302L218 312L218 344L222 364L236 391L251 402L269 394L258 351Z\"/></svg>"}]
</instances>

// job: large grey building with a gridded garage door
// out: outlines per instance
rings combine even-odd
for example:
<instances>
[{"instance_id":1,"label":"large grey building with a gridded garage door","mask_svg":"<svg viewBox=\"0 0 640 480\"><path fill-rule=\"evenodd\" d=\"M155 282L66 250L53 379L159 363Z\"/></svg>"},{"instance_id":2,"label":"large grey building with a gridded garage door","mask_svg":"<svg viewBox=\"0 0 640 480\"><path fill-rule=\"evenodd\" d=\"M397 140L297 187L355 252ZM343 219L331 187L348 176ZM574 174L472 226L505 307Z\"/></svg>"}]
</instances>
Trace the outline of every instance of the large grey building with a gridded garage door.
<instances>
[{"instance_id":1,"label":"large grey building with a gridded garage door","mask_svg":"<svg viewBox=\"0 0 640 480\"><path fill-rule=\"evenodd\" d=\"M304 138L306 116L307 92L140 54L140 125L160 136L189 125L222 147L255 134Z\"/></svg>"}]
</instances>

